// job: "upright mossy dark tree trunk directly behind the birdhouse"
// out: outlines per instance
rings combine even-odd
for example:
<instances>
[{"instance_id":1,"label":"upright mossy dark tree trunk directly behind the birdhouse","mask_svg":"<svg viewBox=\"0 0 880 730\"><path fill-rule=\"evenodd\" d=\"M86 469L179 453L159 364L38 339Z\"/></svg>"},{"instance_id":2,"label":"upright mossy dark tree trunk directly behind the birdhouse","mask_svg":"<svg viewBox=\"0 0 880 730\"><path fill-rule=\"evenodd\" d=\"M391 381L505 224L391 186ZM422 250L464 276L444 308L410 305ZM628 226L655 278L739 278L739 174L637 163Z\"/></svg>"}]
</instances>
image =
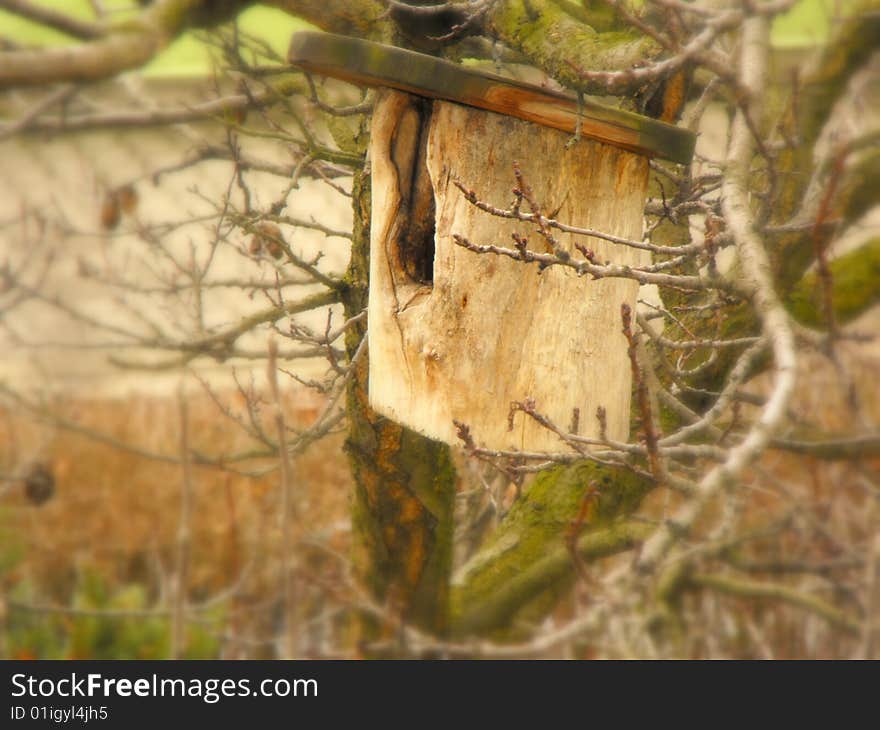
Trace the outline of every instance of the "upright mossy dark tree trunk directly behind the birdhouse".
<instances>
[{"instance_id":1,"label":"upright mossy dark tree trunk directly behind the birdhouse","mask_svg":"<svg viewBox=\"0 0 880 730\"><path fill-rule=\"evenodd\" d=\"M346 316L367 306L370 181L357 173L354 239L347 273ZM349 330L354 358L365 323ZM455 469L449 449L375 413L367 403L368 358L361 357L348 387L346 451L355 479L352 523L355 570L373 597L426 630L446 630L452 567ZM378 626L365 622L363 639Z\"/></svg>"}]
</instances>

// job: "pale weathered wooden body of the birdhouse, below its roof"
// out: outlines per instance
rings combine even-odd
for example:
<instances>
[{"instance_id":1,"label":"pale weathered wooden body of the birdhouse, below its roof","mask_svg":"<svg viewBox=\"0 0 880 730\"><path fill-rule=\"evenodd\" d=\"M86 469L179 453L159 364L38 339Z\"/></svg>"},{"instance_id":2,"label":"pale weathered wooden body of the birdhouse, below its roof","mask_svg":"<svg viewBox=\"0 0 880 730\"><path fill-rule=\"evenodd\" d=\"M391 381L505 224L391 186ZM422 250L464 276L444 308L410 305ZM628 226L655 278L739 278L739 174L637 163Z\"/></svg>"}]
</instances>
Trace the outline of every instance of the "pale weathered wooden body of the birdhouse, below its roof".
<instances>
[{"instance_id":1,"label":"pale weathered wooden body of the birdhouse, below its roof","mask_svg":"<svg viewBox=\"0 0 880 730\"><path fill-rule=\"evenodd\" d=\"M596 409L607 433L629 431L631 375L620 305L635 306L638 285L590 280L572 270L543 272L506 257L476 254L453 241L513 248L511 234L545 250L533 226L478 210L455 187L507 208L517 162L545 213L573 225L627 238L642 234L647 158L513 117L448 102L383 92L374 113L370 290L370 401L378 412L427 436L458 443L453 420L486 448L560 451L550 431L518 413L527 398L567 430L597 436ZM421 169L424 160L426 173ZM414 171L414 172L413 172ZM408 271L411 213L428 175L435 234L432 280ZM412 190L401 191L412 186ZM418 235L421 235L419 233ZM557 238L575 256L575 239ZM599 260L644 265L648 254L600 239L577 239ZM424 242L416 242L423 245ZM403 252L403 253L401 253Z\"/></svg>"}]
</instances>

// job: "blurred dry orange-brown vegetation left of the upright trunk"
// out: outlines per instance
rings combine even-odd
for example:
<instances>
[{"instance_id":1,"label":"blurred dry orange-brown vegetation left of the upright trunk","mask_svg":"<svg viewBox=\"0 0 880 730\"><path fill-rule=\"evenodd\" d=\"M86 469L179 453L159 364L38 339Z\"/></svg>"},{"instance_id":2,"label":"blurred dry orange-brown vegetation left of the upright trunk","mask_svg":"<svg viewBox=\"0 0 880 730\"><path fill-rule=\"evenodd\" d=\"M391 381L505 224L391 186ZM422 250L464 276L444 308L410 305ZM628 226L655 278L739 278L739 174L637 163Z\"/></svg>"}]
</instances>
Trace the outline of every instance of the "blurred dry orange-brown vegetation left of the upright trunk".
<instances>
[{"instance_id":1,"label":"blurred dry orange-brown vegetation left of the upright trunk","mask_svg":"<svg viewBox=\"0 0 880 730\"><path fill-rule=\"evenodd\" d=\"M229 400L234 406L235 397ZM190 444L195 452L235 453L253 447L204 393L195 392L187 401ZM57 416L83 429L179 459L177 397L68 397L53 405ZM285 410L291 425L308 426L317 415L317 405L308 393L289 393ZM8 410L0 423L0 443L6 444L3 470L24 463L27 471L21 455L38 454L55 482L54 493L41 504L28 499L22 480L9 481L5 488L0 531L7 553L4 561L11 562L3 576L7 646L15 649L16 656L41 656L37 647L22 646L15 636L24 616L53 625L60 618L61 625L73 633L78 608L86 612L93 608L98 616L101 610L124 608L112 601L83 605L78 592L86 575L97 579L110 596L139 586L142 598L127 606L135 619L138 611L156 611L165 612L162 620L169 621L181 466ZM345 554L350 476L341 442L341 435L330 436L299 458L293 488L299 510L297 535ZM271 655L275 640L280 561L277 463L266 460L256 464L255 470L261 467L266 470L263 476L216 466L193 469L188 602L216 607L208 633L217 641L207 646L220 654ZM14 556L8 554L11 551ZM324 594L338 589L334 586L339 579L338 561L327 559L317 547L305 547L303 556L300 572L304 580L313 581L304 584L304 591L321 594L321 608L326 608ZM20 590L23 585L27 585L26 594ZM109 616L105 620L119 621ZM192 620L200 620L198 611ZM64 641L47 648L71 656ZM314 650L320 652L321 647Z\"/></svg>"}]
</instances>

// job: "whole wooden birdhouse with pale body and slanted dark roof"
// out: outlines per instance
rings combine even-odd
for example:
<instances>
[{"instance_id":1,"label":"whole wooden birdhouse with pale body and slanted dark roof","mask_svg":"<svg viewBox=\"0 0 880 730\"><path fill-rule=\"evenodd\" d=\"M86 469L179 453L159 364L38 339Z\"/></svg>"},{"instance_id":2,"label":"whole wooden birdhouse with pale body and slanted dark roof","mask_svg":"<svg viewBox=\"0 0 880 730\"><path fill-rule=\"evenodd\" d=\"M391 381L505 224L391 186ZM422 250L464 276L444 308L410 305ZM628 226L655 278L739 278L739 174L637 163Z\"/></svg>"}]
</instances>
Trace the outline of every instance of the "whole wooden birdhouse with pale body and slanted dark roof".
<instances>
[{"instance_id":1,"label":"whole wooden birdhouse with pale body and slanted dark roof","mask_svg":"<svg viewBox=\"0 0 880 730\"><path fill-rule=\"evenodd\" d=\"M513 250L517 234L529 250L547 253L533 223L474 204L509 210L515 167L547 217L641 240L648 161L688 162L693 135L352 38L297 34L290 61L381 88L369 150L372 407L448 443L460 443L458 421L479 446L548 452L567 447L523 413L509 422L512 402L530 400L560 428L593 437L601 407L608 438L625 440L631 368L621 305L635 309L638 284L541 269L461 243ZM525 202L520 209L530 212ZM643 249L553 234L572 257L583 258L577 242L603 263L650 262Z\"/></svg>"}]
</instances>

